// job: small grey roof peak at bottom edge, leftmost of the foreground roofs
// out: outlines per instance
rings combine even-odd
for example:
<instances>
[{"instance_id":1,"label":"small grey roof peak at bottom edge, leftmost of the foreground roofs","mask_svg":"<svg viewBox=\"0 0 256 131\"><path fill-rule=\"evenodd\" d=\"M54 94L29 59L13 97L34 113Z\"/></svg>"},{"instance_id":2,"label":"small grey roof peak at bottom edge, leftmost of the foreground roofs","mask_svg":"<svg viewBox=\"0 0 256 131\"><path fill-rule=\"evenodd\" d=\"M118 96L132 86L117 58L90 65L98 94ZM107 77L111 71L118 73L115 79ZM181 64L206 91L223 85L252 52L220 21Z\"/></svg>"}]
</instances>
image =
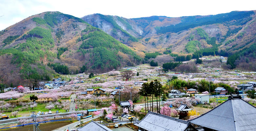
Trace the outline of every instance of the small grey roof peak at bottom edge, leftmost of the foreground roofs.
<instances>
[{"instance_id":1,"label":"small grey roof peak at bottom edge, leftmost of the foreground roofs","mask_svg":"<svg viewBox=\"0 0 256 131\"><path fill-rule=\"evenodd\" d=\"M83 127L77 128L77 131L112 131L103 124L91 121Z\"/></svg>"}]
</instances>

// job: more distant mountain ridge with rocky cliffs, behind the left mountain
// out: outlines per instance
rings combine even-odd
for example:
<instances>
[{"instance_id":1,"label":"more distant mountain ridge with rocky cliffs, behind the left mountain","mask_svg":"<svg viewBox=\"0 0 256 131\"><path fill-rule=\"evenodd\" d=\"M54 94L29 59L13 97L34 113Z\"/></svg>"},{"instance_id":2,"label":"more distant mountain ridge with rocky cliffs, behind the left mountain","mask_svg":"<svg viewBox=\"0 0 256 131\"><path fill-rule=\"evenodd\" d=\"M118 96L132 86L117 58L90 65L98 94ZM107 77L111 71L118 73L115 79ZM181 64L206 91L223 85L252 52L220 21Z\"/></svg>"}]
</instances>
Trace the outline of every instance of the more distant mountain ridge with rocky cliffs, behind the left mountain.
<instances>
[{"instance_id":1,"label":"more distant mountain ridge with rocky cliffs, behind the left mountain","mask_svg":"<svg viewBox=\"0 0 256 131\"><path fill-rule=\"evenodd\" d=\"M163 53L171 50L182 55L217 44L219 52L222 50L233 54L255 43L255 12L232 11L206 16L151 16L132 19L92 14L81 19L143 52Z\"/></svg>"}]
</instances>

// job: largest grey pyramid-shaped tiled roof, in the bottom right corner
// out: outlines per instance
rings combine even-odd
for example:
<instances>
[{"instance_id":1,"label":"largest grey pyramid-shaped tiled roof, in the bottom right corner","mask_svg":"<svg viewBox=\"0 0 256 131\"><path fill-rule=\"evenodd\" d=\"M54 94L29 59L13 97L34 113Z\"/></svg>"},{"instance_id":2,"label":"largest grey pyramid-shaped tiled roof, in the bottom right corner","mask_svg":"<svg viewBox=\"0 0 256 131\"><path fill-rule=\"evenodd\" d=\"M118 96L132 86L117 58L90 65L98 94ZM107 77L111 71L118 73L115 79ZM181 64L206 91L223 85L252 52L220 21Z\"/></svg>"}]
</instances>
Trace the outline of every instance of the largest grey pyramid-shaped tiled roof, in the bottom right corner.
<instances>
[{"instance_id":1,"label":"largest grey pyramid-shaped tiled roof, in the bottom right corner","mask_svg":"<svg viewBox=\"0 0 256 131\"><path fill-rule=\"evenodd\" d=\"M189 122L218 131L255 131L256 107L240 98L229 98Z\"/></svg>"}]
</instances>

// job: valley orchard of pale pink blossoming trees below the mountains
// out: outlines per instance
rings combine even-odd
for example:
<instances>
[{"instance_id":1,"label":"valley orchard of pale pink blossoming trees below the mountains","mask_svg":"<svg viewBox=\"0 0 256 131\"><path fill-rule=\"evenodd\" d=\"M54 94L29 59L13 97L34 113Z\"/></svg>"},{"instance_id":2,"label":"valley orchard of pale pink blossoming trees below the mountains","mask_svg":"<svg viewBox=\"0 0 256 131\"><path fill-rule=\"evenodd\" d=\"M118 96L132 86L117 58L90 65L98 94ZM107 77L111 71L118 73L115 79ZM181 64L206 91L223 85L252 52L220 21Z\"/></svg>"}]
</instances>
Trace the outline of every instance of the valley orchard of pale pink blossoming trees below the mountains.
<instances>
[{"instance_id":1,"label":"valley orchard of pale pink blossoming trees below the mountains","mask_svg":"<svg viewBox=\"0 0 256 131\"><path fill-rule=\"evenodd\" d=\"M217 72L217 68L206 68L203 66L204 71ZM129 80L126 81L122 74L124 70L130 70ZM136 75L138 72L139 75ZM216 87L225 87L228 92L235 93L239 88L238 84L241 84L241 80L253 81L256 79L255 76L247 75L231 75L236 72L222 71L222 77L214 77L214 74L203 73L189 73L180 74L178 79L172 79L174 73L165 73L166 70L162 70L161 67L151 67L149 65L139 65L137 67L126 67L121 71L113 70L103 74L94 74L95 77L100 77L100 81L96 81L95 77L89 78L89 74L78 74L78 75L61 75L61 79L66 81L65 86L62 84L59 89L43 89L43 90L32 90L32 86L28 83L24 87L19 87L11 91L0 94L0 108L4 111L3 114L10 115L11 118L17 117L15 114L18 112L22 114L28 111L55 111L59 110L62 112L68 111L70 103L74 100L70 99L71 94L75 94L75 104L79 106L80 110L87 110L95 108L102 108L100 113L109 110L115 113L129 113L128 109L118 109L119 101L129 101L134 108L134 115L141 118L141 114L147 113L148 110L161 113L167 116L177 116L177 111L174 108L180 106L181 103L187 104L188 107L193 108L196 105L195 99L191 98L180 98L173 102L167 102L162 105L162 96L165 94L168 96L169 91L178 89L181 92L186 92L189 88L194 88L203 94L213 93ZM196 76L191 78L190 76ZM206 78L207 77L207 78ZM62 80L62 81L63 81ZM45 82L44 82L45 83ZM136 83L136 84L135 84ZM138 84L144 83L144 84ZM67 85L68 84L68 85ZM34 83L33 83L34 85ZM39 85L39 82L38 82ZM116 87L122 87L116 89ZM37 86L38 87L38 86ZM105 96L98 96L91 94L81 94L86 91L87 88L102 88L105 90ZM120 95L111 95L112 91L118 91ZM33 103L29 98L30 96L36 96L38 100ZM130 100L131 99L131 100ZM255 99L245 99L249 103L255 104ZM157 104L153 102L156 102ZM143 103L143 106L137 105ZM172 104L172 108L169 105ZM213 108L218 104L214 101L210 101L209 104L205 105L208 108ZM76 109L78 110L78 109ZM109 112L109 111L108 111ZM143 113L142 113L143 112ZM95 112L94 114L98 114ZM110 114L111 115L111 114Z\"/></svg>"}]
</instances>

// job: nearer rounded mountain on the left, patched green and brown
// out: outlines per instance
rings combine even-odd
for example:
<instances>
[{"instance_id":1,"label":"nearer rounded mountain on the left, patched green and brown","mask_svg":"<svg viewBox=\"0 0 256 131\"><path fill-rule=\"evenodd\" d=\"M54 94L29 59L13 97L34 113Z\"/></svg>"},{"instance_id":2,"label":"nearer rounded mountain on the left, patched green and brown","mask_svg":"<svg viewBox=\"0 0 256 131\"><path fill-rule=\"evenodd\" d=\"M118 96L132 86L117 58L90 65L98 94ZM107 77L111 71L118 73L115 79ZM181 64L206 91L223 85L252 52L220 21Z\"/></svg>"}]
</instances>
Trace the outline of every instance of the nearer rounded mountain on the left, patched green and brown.
<instances>
[{"instance_id":1,"label":"nearer rounded mountain on the left, patched green and brown","mask_svg":"<svg viewBox=\"0 0 256 131\"><path fill-rule=\"evenodd\" d=\"M36 14L0 32L0 76L8 84L50 80L57 73L100 73L141 60L101 29L60 12Z\"/></svg>"}]
</instances>

